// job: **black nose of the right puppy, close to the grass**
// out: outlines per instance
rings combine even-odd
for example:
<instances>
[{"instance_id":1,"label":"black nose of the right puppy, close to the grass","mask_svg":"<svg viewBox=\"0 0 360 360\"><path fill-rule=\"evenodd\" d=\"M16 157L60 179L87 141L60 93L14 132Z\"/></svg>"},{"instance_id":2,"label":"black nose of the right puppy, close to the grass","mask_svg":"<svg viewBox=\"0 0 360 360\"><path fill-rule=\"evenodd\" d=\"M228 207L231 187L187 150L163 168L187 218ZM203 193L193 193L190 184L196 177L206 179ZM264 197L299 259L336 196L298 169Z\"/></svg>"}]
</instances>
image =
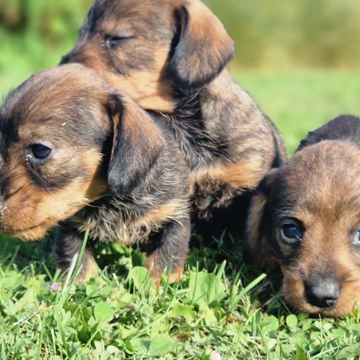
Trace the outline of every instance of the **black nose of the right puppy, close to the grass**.
<instances>
[{"instance_id":1,"label":"black nose of the right puppy, close to the grass","mask_svg":"<svg viewBox=\"0 0 360 360\"><path fill-rule=\"evenodd\" d=\"M314 276L305 282L305 296L310 305L317 308L330 308L339 299L339 281L329 276Z\"/></svg>"}]
</instances>

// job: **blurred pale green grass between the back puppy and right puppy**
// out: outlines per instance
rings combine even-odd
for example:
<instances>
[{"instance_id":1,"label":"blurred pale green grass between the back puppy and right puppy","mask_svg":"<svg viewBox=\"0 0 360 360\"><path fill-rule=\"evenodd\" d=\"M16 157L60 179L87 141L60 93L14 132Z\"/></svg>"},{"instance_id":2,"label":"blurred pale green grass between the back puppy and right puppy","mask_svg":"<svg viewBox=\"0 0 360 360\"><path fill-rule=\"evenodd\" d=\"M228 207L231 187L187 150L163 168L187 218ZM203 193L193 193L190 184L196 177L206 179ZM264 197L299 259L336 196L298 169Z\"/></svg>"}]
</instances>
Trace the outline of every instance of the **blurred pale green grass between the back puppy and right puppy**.
<instances>
[{"instance_id":1,"label":"blurred pale green grass between the back puppy and right puppy","mask_svg":"<svg viewBox=\"0 0 360 360\"><path fill-rule=\"evenodd\" d=\"M360 72L247 72L237 80L276 123L291 154L309 131L342 113L360 116Z\"/></svg>"}]
</instances>

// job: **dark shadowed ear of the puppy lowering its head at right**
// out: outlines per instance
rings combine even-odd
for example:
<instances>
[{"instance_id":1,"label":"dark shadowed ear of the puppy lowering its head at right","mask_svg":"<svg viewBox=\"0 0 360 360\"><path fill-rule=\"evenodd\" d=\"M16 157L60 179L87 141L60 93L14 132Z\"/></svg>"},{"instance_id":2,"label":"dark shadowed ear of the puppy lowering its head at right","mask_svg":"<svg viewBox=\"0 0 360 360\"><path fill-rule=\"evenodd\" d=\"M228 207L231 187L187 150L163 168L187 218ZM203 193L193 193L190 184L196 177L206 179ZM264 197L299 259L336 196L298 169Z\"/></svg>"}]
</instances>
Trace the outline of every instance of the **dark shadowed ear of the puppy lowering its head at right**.
<instances>
[{"instance_id":1,"label":"dark shadowed ear of the puppy lowering its head at right","mask_svg":"<svg viewBox=\"0 0 360 360\"><path fill-rule=\"evenodd\" d=\"M267 234L270 219L266 219L265 208L271 190L276 186L279 169L272 169L261 181L257 191L252 196L247 217L245 234L245 257L260 269L276 269L278 266L271 249Z\"/></svg>"}]
</instances>

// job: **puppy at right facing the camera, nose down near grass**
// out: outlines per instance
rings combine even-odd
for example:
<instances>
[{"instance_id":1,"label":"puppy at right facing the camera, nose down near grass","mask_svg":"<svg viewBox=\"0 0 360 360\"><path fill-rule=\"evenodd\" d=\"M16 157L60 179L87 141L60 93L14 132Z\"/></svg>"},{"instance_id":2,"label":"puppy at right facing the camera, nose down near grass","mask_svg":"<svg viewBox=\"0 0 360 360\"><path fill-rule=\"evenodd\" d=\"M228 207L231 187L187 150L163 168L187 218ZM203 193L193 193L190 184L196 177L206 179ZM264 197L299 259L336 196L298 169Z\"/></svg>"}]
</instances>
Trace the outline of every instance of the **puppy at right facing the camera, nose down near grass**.
<instances>
[{"instance_id":1,"label":"puppy at right facing the camera, nose down near grass","mask_svg":"<svg viewBox=\"0 0 360 360\"><path fill-rule=\"evenodd\" d=\"M247 245L261 267L281 266L299 310L342 316L360 300L360 118L309 133L252 201Z\"/></svg>"}]
</instances>

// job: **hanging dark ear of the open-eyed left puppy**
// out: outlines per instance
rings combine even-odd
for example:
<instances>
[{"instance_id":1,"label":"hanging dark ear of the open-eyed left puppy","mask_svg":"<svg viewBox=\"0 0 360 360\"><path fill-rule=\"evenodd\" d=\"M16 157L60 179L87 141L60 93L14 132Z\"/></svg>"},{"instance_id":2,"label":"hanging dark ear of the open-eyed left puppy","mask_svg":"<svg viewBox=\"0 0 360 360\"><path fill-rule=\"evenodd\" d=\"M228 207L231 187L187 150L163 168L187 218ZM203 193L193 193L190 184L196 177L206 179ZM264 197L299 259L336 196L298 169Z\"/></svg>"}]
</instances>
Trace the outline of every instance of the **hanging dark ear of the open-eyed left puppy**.
<instances>
[{"instance_id":1,"label":"hanging dark ear of the open-eyed left puppy","mask_svg":"<svg viewBox=\"0 0 360 360\"><path fill-rule=\"evenodd\" d=\"M164 147L164 138L148 113L130 99L111 96L113 148L108 187L118 196L133 196L147 185Z\"/></svg>"}]
</instances>

